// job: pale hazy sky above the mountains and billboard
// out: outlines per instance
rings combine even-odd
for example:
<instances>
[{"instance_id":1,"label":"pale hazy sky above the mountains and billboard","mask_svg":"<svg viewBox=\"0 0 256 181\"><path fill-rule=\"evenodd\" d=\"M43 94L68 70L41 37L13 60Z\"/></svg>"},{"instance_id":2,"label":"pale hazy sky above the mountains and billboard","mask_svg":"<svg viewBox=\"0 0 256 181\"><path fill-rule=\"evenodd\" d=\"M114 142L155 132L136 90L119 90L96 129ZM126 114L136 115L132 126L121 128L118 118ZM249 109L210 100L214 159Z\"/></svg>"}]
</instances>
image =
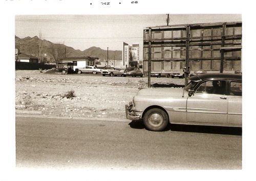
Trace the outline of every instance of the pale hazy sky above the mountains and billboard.
<instances>
[{"instance_id":1,"label":"pale hazy sky above the mountains and billboard","mask_svg":"<svg viewBox=\"0 0 256 181\"><path fill-rule=\"evenodd\" d=\"M152 15L17 15L15 35L38 36L84 50L91 46L122 50L123 42L140 44L143 28L166 25L166 14ZM170 14L169 24L242 21L241 14Z\"/></svg>"}]
</instances>

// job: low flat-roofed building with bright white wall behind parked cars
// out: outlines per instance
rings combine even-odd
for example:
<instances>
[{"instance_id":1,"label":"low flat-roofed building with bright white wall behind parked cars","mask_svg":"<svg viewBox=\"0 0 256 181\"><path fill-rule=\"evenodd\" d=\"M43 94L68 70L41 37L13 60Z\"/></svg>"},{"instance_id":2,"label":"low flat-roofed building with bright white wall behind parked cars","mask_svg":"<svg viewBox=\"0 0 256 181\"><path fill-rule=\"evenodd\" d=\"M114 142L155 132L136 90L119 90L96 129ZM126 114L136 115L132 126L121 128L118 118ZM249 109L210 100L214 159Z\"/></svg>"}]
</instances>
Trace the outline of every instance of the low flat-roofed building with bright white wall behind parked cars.
<instances>
[{"instance_id":1,"label":"low flat-roofed building with bright white wall behind parked cars","mask_svg":"<svg viewBox=\"0 0 256 181\"><path fill-rule=\"evenodd\" d=\"M97 57L65 57L65 58L60 58L60 62L73 62L73 69L75 70L76 68L82 68L87 65L95 66L96 60L99 58Z\"/></svg>"}]
</instances>

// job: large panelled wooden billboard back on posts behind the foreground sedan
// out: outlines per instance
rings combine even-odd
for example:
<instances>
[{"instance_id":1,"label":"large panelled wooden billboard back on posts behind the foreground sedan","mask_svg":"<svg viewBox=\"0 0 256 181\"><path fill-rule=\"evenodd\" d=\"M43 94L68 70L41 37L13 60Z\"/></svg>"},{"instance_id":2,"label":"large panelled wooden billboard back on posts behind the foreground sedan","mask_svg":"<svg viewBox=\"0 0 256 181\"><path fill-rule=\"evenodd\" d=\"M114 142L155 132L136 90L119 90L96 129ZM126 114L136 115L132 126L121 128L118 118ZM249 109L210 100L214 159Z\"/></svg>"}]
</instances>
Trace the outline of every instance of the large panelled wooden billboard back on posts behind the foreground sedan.
<instances>
[{"instance_id":1,"label":"large panelled wooden billboard back on posts behind the foreground sedan","mask_svg":"<svg viewBox=\"0 0 256 181\"><path fill-rule=\"evenodd\" d=\"M148 27L143 35L143 72L242 72L242 22ZM150 72L148 72L150 70ZM148 76L148 87L150 87Z\"/></svg>"}]
</instances>

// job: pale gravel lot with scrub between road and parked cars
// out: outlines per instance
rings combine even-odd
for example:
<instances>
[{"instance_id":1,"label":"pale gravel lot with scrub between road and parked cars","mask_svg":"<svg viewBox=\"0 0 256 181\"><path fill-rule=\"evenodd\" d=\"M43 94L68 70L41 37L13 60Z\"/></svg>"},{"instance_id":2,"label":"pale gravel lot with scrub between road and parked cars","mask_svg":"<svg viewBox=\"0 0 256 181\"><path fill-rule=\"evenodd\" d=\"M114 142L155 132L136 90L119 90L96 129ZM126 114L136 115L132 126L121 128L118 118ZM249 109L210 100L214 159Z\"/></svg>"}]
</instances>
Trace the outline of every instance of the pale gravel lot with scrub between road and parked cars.
<instances>
[{"instance_id":1,"label":"pale gravel lot with scrub between road and parked cars","mask_svg":"<svg viewBox=\"0 0 256 181\"><path fill-rule=\"evenodd\" d=\"M50 73L51 72L51 73ZM184 85L184 79L151 77L152 84ZM147 77L110 77L92 74L60 74L53 70L15 71L16 113L59 117L125 118L125 104ZM166 88L174 89L174 88ZM67 98L68 91L75 97Z\"/></svg>"}]
</instances>

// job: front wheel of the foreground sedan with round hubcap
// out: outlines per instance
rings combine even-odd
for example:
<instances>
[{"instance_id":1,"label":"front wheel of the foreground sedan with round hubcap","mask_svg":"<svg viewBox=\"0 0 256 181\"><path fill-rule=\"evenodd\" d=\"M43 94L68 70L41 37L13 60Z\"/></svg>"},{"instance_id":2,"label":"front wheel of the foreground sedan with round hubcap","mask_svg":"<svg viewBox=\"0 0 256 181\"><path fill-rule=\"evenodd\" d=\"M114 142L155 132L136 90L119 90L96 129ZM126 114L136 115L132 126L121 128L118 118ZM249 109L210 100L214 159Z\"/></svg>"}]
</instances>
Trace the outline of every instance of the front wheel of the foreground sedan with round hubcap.
<instances>
[{"instance_id":1,"label":"front wheel of the foreground sedan with round hubcap","mask_svg":"<svg viewBox=\"0 0 256 181\"><path fill-rule=\"evenodd\" d=\"M153 108L145 113L143 122L148 130L163 131L168 125L169 119L163 110Z\"/></svg>"}]
</instances>

